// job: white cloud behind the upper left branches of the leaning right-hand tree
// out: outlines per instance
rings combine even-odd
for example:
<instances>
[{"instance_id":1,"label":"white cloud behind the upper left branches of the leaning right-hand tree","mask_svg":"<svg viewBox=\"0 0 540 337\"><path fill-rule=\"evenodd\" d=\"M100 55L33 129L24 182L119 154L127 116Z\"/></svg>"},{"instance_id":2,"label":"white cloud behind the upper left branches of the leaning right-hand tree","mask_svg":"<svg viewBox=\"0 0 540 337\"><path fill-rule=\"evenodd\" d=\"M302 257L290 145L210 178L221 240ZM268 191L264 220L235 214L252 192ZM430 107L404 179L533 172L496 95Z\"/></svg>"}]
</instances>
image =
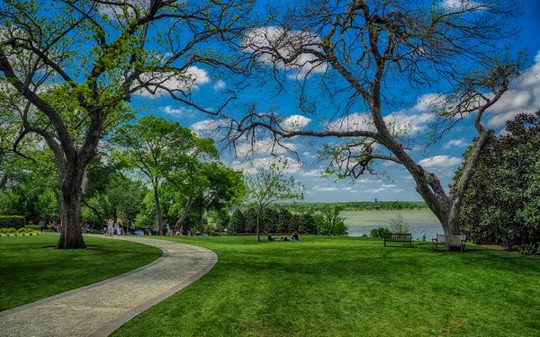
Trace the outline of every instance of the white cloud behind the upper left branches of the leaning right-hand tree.
<instances>
[{"instance_id":1,"label":"white cloud behind the upper left branches of the leaning right-hand tree","mask_svg":"<svg viewBox=\"0 0 540 337\"><path fill-rule=\"evenodd\" d=\"M319 49L320 38L311 31L284 31L279 27L260 27L250 31L243 40L244 50L256 54L259 61L279 70L291 71L290 78L305 78L309 74L323 73L328 65L317 61L311 54L301 54L285 65L275 58L276 53L289 58L295 49L308 47Z\"/></svg>"}]
</instances>

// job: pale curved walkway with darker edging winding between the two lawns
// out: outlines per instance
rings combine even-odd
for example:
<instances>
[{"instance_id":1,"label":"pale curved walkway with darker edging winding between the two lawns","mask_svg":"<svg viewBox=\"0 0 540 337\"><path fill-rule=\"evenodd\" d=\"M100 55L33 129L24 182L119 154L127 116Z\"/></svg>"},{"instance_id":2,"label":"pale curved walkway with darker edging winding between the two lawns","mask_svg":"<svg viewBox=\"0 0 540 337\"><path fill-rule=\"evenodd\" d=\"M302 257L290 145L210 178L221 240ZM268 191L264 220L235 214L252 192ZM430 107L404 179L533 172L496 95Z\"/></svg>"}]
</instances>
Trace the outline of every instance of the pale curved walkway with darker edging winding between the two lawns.
<instances>
[{"instance_id":1,"label":"pale curved walkway with darker edging winding between the two lawns","mask_svg":"<svg viewBox=\"0 0 540 337\"><path fill-rule=\"evenodd\" d=\"M112 279L0 312L0 334L108 336L121 324L201 278L218 262L216 253L192 244L130 236L110 239L152 245L161 249L163 256Z\"/></svg>"}]
</instances>

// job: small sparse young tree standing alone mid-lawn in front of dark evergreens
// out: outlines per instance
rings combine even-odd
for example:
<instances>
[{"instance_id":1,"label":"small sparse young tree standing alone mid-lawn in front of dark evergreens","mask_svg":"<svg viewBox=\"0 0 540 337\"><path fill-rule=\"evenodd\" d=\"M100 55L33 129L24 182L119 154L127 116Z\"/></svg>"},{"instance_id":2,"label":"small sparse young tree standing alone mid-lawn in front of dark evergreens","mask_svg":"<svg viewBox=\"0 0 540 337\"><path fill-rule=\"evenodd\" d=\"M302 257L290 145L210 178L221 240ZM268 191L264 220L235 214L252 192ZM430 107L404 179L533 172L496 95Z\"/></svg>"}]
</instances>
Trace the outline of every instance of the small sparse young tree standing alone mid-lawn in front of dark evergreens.
<instances>
[{"instance_id":1,"label":"small sparse young tree standing alone mid-lawn in front of dark evergreens","mask_svg":"<svg viewBox=\"0 0 540 337\"><path fill-rule=\"evenodd\" d=\"M255 208L257 214L257 241L260 242L259 224L263 209L278 200L303 200L303 185L294 181L294 177L284 177L277 173L275 165L271 170L260 170L256 176L247 177L247 203Z\"/></svg>"}]
</instances>

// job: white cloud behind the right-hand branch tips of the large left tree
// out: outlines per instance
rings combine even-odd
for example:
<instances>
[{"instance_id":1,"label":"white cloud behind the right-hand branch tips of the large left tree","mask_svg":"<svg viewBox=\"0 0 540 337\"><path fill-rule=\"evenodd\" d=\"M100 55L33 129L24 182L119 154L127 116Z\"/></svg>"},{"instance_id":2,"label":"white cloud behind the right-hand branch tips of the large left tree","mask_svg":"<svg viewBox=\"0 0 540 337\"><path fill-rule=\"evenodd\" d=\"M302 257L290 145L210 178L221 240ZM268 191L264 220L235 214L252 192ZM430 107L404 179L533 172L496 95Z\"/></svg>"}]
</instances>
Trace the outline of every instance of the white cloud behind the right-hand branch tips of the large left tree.
<instances>
[{"instance_id":1,"label":"white cloud behind the right-hand branch tips of the large left tree","mask_svg":"<svg viewBox=\"0 0 540 337\"><path fill-rule=\"evenodd\" d=\"M166 90L157 88L157 85L164 86L172 91L182 90L197 90L202 84L210 82L210 77L204 69L198 67L188 67L184 74L175 75L173 73L145 73L140 75L140 80L143 84L148 84L152 92L163 95ZM139 83L134 85L139 86ZM150 93L147 89L139 89L137 92L142 96L151 97L154 93Z\"/></svg>"}]
</instances>

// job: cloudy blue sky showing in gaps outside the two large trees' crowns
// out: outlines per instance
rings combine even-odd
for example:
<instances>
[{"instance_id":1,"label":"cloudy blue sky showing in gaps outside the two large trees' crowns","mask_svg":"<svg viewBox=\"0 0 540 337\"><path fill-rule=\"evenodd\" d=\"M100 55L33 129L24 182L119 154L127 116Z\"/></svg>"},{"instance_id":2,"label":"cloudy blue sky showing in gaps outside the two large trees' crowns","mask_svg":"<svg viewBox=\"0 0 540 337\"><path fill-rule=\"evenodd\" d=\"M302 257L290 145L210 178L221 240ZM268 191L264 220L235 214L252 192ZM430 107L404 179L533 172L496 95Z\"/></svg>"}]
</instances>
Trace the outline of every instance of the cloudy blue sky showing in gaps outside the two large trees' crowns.
<instances>
[{"instance_id":1,"label":"cloudy blue sky showing in gaps outside the two large trees' crowns","mask_svg":"<svg viewBox=\"0 0 540 337\"><path fill-rule=\"evenodd\" d=\"M447 0L452 1L452 0ZM497 133L504 132L504 122L512 119L516 114L531 113L540 109L540 1L525 0L524 16L518 22L523 29L519 39L517 39L517 49L526 49L529 54L529 67L524 76L513 84L509 93L506 93L500 102L493 106L483 118L483 124ZM193 75L197 80L193 86L193 100L197 102L208 102L208 108L212 108L212 99L219 95L220 91L227 88L226 81L213 81L211 76L200 68L193 69ZM257 95L259 93L250 93ZM155 114L166 117L169 120L180 121L185 127L193 129L195 132L204 132L205 129L212 128L206 123L208 115L194 111L174 102L164 96L140 95L139 102L149 102L153 98ZM413 112L408 117L408 122L416 126L419 132L425 131L427 124L423 118L423 102L428 101L429 96L421 96L417 100L417 105L412 108ZM293 98L282 96L279 98L279 105L286 115L295 115L293 110ZM204 104L204 103L202 103ZM425 111L425 109L424 109ZM316 123L317 120L307 120L298 118L295 120L301 125ZM411 155L418 160L428 171L437 173L437 177L446 186L451 182L455 170L461 164L461 155L466 146L470 145L476 131L471 125L472 120L465 120L458 124L455 129L448 132L441 141L426 148L415 148ZM304 144L296 140L287 140L286 143L295 149L301 156L302 162L296 162L292 155L286 153L279 154L284 158L290 157L288 172L301 181L305 187L306 201L371 201L377 200L421 200L419 194L414 189L414 182L399 164L382 164L381 169L386 172L379 177L366 175L364 179L352 182L350 179L334 182L333 177L328 179L320 178L320 171L324 169L324 163L313 163L313 150L320 143L315 145ZM265 145L259 148L258 155L248 158L236 158L230 153L223 153L221 159L229 166L245 169L247 173L254 173L257 167L265 167L269 163L275 162L275 157L267 155ZM250 164L248 164L250 163Z\"/></svg>"}]
</instances>

